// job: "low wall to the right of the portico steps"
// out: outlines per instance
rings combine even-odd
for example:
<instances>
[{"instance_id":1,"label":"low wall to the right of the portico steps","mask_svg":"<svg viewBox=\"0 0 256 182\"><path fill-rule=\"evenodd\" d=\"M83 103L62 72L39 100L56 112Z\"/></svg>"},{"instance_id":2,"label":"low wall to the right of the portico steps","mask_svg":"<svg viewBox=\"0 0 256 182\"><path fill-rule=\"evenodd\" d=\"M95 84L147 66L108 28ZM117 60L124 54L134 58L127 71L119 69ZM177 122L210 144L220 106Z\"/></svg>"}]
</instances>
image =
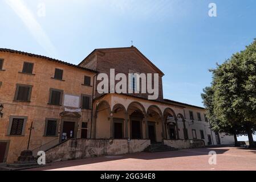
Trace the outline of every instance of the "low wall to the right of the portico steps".
<instances>
[{"instance_id":1,"label":"low wall to the right of the portico steps","mask_svg":"<svg viewBox=\"0 0 256 182\"><path fill-rule=\"evenodd\" d=\"M204 140L164 140L164 144L178 149L205 147Z\"/></svg>"}]
</instances>

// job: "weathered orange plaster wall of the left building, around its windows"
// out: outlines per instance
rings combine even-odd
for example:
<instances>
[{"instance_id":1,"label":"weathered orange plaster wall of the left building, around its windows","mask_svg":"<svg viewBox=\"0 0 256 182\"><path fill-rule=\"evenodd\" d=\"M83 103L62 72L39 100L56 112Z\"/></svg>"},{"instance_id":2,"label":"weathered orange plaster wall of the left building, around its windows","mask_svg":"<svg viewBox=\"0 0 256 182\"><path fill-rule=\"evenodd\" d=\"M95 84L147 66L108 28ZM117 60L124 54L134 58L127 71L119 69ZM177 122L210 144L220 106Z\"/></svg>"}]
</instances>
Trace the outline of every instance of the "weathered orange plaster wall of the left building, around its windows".
<instances>
[{"instance_id":1,"label":"weathered orange plaster wall of the left building, around its windows","mask_svg":"<svg viewBox=\"0 0 256 182\"><path fill-rule=\"evenodd\" d=\"M10 141L7 154L7 163L17 160L21 151L27 149L29 140L29 127L33 122L34 130L31 133L30 149L48 143L57 137L44 137L44 125L46 118L60 119L60 113L64 110L63 106L48 105L50 88L63 90L64 94L80 96L81 94L92 94L91 86L82 85L84 76L93 76L95 73L76 69L68 65L55 63L36 57L19 55L15 53L0 52L0 58L4 59L3 69L0 71L0 103L3 104L3 118L0 117L0 142ZM19 73L22 71L23 63L27 61L34 63L33 74L28 75ZM55 68L63 69L63 80L54 80ZM15 102L14 94L16 84L32 85L30 102ZM90 127L91 110L84 109L82 118L79 119L79 127L82 122L88 122ZM25 134L22 136L10 136L7 134L10 116L27 117ZM60 126L59 126L60 129ZM88 131L88 134L90 132ZM78 130L80 137L80 130Z\"/></svg>"}]
</instances>

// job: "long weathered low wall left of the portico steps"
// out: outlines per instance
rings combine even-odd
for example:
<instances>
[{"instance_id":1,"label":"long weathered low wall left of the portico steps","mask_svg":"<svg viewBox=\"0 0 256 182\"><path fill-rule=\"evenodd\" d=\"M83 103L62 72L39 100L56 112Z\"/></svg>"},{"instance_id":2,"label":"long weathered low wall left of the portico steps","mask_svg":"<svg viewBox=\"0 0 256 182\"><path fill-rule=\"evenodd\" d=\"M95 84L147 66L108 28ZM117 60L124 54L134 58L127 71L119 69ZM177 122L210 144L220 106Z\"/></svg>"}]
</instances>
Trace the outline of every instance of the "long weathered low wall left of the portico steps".
<instances>
[{"instance_id":1,"label":"long weathered low wall left of the portico steps","mask_svg":"<svg viewBox=\"0 0 256 182\"><path fill-rule=\"evenodd\" d=\"M132 139L70 139L46 151L46 161L74 160L101 155L141 152L150 140Z\"/></svg>"}]
</instances>

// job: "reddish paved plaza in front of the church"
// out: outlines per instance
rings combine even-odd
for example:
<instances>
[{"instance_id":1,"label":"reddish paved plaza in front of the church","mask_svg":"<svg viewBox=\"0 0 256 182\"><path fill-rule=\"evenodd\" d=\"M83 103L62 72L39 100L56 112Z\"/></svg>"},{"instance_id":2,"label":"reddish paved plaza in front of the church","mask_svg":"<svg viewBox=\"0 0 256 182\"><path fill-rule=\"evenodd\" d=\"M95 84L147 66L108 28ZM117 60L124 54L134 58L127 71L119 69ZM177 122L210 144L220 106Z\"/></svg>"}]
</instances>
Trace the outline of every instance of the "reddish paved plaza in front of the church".
<instances>
[{"instance_id":1,"label":"reddish paved plaza in front of the church","mask_svg":"<svg viewBox=\"0 0 256 182\"><path fill-rule=\"evenodd\" d=\"M209 164L209 152L217 164ZM256 150L237 147L206 147L179 151L101 156L69 160L30 170L256 170Z\"/></svg>"}]
</instances>

